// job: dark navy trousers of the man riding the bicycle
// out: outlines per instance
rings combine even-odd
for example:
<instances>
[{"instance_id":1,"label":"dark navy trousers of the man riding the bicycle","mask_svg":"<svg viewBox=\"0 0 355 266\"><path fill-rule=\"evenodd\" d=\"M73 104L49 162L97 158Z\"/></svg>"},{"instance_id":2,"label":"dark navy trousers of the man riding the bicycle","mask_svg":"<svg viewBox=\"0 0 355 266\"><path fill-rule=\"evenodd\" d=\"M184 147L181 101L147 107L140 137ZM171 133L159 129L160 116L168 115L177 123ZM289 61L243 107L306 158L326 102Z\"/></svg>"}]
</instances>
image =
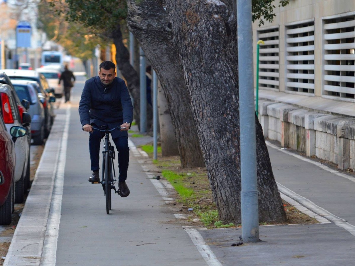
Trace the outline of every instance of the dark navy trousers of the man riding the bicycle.
<instances>
[{"instance_id":1,"label":"dark navy trousers of the man riding the bicycle","mask_svg":"<svg viewBox=\"0 0 355 266\"><path fill-rule=\"evenodd\" d=\"M98 171L100 169L99 160L100 160L100 142L101 139L105 136L104 132L94 130L90 133L89 137L89 151L91 159L91 171ZM119 177L118 181L123 182L127 179L127 170L128 163L130 159L130 148L128 146L128 137L118 137L114 138L113 142L116 145L118 151L118 168L119 168Z\"/></svg>"}]
</instances>

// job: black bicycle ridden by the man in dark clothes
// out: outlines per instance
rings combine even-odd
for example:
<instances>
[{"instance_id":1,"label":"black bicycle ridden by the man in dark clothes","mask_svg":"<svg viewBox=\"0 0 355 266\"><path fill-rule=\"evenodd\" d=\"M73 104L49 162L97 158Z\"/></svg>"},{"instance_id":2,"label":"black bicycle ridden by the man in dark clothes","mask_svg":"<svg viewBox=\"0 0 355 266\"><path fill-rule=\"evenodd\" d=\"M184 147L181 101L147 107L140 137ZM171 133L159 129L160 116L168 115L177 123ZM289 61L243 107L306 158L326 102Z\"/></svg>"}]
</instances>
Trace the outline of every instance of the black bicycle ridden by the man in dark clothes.
<instances>
[{"instance_id":1,"label":"black bicycle ridden by the man in dark clothes","mask_svg":"<svg viewBox=\"0 0 355 266\"><path fill-rule=\"evenodd\" d=\"M102 151L102 175L101 181L99 182L91 182L92 184L102 184L102 188L104 190L105 198L106 198L106 213L110 214L111 210L111 189L115 190L115 193L120 194L120 190L115 187L116 183L116 173L114 167L114 160L116 158L115 147L110 143L110 132L116 129L125 129L124 127L115 127L112 129L108 129L107 126L104 126L104 129L99 129L93 127L94 130L98 130L101 132L105 132L105 144L104 150Z\"/></svg>"}]
</instances>

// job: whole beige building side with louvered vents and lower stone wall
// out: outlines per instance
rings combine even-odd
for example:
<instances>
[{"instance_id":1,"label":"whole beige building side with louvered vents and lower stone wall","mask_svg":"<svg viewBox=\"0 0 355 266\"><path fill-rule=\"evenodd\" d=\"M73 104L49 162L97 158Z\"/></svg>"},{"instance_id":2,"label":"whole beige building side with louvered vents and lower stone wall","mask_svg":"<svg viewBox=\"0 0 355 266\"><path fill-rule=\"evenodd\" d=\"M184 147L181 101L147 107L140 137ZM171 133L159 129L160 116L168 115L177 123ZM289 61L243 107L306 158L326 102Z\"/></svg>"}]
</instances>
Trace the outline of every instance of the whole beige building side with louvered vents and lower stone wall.
<instances>
[{"instance_id":1,"label":"whole beige building side with louvered vents and lower stone wall","mask_svg":"<svg viewBox=\"0 0 355 266\"><path fill-rule=\"evenodd\" d=\"M355 1L289 2L253 23L264 136L355 170Z\"/></svg>"}]
</instances>

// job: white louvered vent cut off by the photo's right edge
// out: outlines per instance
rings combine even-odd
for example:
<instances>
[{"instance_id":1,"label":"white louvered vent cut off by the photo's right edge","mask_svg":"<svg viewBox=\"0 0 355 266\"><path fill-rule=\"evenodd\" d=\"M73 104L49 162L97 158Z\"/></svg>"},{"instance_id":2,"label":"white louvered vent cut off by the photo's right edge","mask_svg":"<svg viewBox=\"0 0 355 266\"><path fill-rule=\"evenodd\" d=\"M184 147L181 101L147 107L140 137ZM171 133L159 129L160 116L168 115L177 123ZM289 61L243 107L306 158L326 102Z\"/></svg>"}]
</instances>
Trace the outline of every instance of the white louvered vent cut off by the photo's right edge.
<instances>
[{"instance_id":1,"label":"white louvered vent cut off by the photo's right edge","mask_svg":"<svg viewBox=\"0 0 355 266\"><path fill-rule=\"evenodd\" d=\"M355 99L355 16L323 20L323 95Z\"/></svg>"}]
</instances>

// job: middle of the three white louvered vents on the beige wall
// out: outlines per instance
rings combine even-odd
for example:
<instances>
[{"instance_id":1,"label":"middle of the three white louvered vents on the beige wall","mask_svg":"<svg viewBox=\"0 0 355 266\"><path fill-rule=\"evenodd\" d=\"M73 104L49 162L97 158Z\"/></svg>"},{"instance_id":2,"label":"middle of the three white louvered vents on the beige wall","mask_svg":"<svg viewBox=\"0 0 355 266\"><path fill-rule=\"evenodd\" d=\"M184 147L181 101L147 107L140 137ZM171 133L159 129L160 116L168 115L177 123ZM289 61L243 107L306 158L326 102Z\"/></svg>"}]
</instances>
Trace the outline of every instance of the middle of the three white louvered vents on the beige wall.
<instances>
[{"instance_id":1,"label":"middle of the three white louvered vents on the beige wall","mask_svg":"<svg viewBox=\"0 0 355 266\"><path fill-rule=\"evenodd\" d=\"M313 94L314 21L286 26L286 91Z\"/></svg>"}]
</instances>

